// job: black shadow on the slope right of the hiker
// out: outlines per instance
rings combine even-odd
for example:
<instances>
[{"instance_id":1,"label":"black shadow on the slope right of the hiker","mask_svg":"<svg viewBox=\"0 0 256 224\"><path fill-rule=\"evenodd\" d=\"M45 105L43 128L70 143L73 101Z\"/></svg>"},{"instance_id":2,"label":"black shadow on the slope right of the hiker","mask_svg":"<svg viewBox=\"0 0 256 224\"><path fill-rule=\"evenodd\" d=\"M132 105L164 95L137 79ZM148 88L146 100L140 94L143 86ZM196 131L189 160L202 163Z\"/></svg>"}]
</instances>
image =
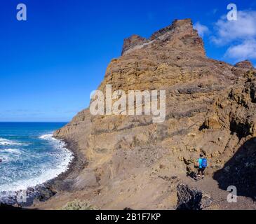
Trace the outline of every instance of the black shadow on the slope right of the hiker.
<instances>
[{"instance_id":1,"label":"black shadow on the slope right of the hiker","mask_svg":"<svg viewBox=\"0 0 256 224\"><path fill-rule=\"evenodd\" d=\"M238 196L256 200L256 138L246 141L224 167L213 175L219 188L236 186Z\"/></svg>"}]
</instances>

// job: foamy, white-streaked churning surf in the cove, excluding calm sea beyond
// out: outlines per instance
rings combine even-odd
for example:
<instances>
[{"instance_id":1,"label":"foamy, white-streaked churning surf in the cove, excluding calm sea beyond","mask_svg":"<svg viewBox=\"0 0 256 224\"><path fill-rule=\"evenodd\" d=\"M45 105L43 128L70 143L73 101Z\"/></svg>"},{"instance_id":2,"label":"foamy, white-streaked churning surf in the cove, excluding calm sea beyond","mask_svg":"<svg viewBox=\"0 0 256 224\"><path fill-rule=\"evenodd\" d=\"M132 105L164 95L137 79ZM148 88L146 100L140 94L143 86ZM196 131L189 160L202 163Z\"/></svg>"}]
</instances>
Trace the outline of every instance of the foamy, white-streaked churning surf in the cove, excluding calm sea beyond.
<instances>
[{"instance_id":1,"label":"foamy, white-streaked churning surf in the cove, excluding calm sea beyond","mask_svg":"<svg viewBox=\"0 0 256 224\"><path fill-rule=\"evenodd\" d=\"M31 144L0 138L1 195L27 190L66 172L74 156L64 141L42 134ZM10 147L11 146L11 147Z\"/></svg>"}]
</instances>

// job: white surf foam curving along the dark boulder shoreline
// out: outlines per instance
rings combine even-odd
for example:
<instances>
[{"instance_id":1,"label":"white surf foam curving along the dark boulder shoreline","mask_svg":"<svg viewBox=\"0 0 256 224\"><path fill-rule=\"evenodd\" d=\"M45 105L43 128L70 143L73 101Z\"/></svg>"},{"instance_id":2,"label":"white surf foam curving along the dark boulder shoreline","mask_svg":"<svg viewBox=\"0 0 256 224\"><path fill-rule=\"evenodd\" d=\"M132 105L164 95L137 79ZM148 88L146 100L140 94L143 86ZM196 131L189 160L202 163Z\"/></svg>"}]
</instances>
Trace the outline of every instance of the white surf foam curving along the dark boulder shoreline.
<instances>
[{"instance_id":1,"label":"white surf foam curving along the dark boulder shoreline","mask_svg":"<svg viewBox=\"0 0 256 224\"><path fill-rule=\"evenodd\" d=\"M60 164L54 168L41 167L41 174L32 179L23 179L20 181L15 181L15 183L1 185L0 192L13 192L18 190L27 190L27 188L34 188L35 186L50 181L51 179L55 179L60 174L67 171L70 162L72 162L74 158L74 155L66 148L65 143L59 139L53 138L53 134L43 134L39 138L48 141L48 143L56 148L56 150L61 150L63 152L63 158L60 158ZM7 151L12 151L12 149L10 148ZM15 153L18 153L18 151L15 151ZM8 160L8 157L4 158L4 160Z\"/></svg>"}]
</instances>

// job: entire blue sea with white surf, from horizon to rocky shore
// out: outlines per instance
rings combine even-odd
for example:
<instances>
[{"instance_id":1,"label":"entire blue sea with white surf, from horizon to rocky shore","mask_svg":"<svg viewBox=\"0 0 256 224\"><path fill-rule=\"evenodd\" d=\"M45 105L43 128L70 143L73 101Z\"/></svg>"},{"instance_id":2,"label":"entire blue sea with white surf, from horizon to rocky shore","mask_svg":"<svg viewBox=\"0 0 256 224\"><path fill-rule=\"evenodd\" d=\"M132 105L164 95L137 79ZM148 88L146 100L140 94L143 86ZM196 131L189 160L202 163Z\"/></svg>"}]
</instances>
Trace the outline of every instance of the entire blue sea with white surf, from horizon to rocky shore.
<instances>
[{"instance_id":1,"label":"entire blue sea with white surf, from horizon to rocky shore","mask_svg":"<svg viewBox=\"0 0 256 224\"><path fill-rule=\"evenodd\" d=\"M0 195L65 172L73 155L53 132L66 123L0 123Z\"/></svg>"}]
</instances>

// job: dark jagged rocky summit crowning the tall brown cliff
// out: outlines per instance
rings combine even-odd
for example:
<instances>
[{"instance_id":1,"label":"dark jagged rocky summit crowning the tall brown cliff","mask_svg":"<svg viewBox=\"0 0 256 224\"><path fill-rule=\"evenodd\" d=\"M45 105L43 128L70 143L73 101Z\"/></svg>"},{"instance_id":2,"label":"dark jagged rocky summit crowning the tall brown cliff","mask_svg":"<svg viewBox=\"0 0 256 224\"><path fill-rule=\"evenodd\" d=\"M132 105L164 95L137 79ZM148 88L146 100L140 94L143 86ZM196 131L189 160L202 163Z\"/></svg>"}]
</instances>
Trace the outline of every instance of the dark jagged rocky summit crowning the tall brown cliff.
<instances>
[{"instance_id":1,"label":"dark jagged rocky summit crowning the tall brown cliff","mask_svg":"<svg viewBox=\"0 0 256 224\"><path fill-rule=\"evenodd\" d=\"M152 43L161 46L168 45L168 47L181 50L192 50L203 57L206 56L203 40L193 29L191 19L175 20L171 25L154 32L148 39L138 35L126 38L123 43L122 55L127 55L133 50L150 47Z\"/></svg>"}]
</instances>

